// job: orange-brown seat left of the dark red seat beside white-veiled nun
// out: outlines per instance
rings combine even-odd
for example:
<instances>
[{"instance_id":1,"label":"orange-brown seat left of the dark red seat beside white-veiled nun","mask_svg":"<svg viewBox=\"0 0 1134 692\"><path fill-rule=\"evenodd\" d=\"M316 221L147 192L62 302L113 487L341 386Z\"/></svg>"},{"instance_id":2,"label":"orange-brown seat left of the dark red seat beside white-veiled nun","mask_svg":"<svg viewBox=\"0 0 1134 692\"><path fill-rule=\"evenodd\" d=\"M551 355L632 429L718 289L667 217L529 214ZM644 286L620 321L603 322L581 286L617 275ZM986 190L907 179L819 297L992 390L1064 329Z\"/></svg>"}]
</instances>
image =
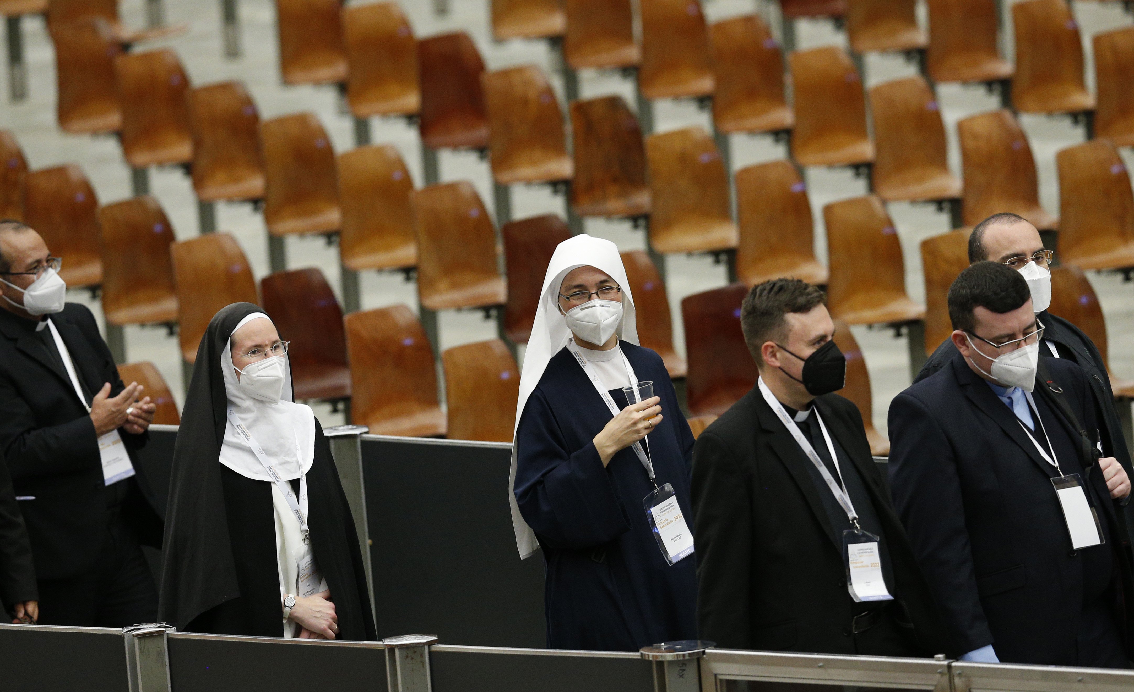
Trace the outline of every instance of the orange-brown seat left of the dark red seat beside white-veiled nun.
<instances>
[{"instance_id":1,"label":"orange-brown seat left of the dark red seat beside white-veiled nun","mask_svg":"<svg viewBox=\"0 0 1134 692\"><path fill-rule=\"evenodd\" d=\"M417 296L430 310L508 301L497 268L496 229L472 183L431 185L409 194L417 236Z\"/></svg>"}]
</instances>

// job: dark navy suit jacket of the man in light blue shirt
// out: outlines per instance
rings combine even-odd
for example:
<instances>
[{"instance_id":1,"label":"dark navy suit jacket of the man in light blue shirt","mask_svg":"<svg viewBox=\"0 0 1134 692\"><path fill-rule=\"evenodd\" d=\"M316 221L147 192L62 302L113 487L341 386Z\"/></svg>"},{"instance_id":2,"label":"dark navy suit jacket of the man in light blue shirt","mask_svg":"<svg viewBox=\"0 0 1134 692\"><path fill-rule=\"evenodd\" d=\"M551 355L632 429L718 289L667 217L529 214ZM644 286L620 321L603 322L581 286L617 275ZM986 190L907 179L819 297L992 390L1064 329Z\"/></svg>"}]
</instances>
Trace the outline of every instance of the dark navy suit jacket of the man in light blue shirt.
<instances>
[{"instance_id":1,"label":"dark navy suit jacket of the man in light blue shirt","mask_svg":"<svg viewBox=\"0 0 1134 692\"><path fill-rule=\"evenodd\" d=\"M1065 359L1044 364L1093 433L1083 370ZM1046 405L1041 386L1034 395ZM1063 427L1069 439L1078 439L1048 409L1048 433ZM1129 565L1102 473L1088 476L1089 497L1112 539L1072 550L1050 482L1057 473L959 353L894 399L889 430L894 502L962 649L993 644L1005 661L1074 665L1085 582L1101 578L1116 597L1129 600ZM1068 450L1060 462L1065 473L1078 465L1076 448ZM1090 550L1111 550L1114 572L1089 574L1084 562L1098 556ZM1122 627L1128 614L1116 604L1115 616Z\"/></svg>"}]
</instances>

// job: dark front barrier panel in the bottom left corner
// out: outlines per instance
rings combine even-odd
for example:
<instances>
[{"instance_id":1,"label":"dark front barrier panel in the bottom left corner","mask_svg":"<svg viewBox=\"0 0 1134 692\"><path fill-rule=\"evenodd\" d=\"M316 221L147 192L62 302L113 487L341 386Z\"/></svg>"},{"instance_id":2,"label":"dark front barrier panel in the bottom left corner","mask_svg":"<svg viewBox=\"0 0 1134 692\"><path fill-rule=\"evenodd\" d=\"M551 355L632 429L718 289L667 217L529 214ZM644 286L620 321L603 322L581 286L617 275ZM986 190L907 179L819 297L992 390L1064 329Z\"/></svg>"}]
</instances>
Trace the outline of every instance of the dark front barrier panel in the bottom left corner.
<instances>
[{"instance_id":1,"label":"dark front barrier panel in the bottom left corner","mask_svg":"<svg viewBox=\"0 0 1134 692\"><path fill-rule=\"evenodd\" d=\"M122 631L0 625L0 690L122 692Z\"/></svg>"}]
</instances>

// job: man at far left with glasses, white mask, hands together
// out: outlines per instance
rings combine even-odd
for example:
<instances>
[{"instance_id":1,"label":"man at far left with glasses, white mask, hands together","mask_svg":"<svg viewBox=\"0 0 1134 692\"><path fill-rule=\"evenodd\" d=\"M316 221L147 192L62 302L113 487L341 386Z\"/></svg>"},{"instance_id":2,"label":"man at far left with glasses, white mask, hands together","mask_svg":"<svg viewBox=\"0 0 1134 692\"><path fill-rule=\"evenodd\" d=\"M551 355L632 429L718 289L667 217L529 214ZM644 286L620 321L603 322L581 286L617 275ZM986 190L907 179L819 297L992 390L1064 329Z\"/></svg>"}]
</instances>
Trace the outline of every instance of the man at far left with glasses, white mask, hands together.
<instances>
[{"instance_id":1,"label":"man at far left with glasses, white mask, hands together","mask_svg":"<svg viewBox=\"0 0 1134 692\"><path fill-rule=\"evenodd\" d=\"M27 526L39 622L152 622L158 591L141 545L162 521L135 453L156 407L125 385L91 311L66 302L61 260L0 221L0 455Z\"/></svg>"}]
</instances>

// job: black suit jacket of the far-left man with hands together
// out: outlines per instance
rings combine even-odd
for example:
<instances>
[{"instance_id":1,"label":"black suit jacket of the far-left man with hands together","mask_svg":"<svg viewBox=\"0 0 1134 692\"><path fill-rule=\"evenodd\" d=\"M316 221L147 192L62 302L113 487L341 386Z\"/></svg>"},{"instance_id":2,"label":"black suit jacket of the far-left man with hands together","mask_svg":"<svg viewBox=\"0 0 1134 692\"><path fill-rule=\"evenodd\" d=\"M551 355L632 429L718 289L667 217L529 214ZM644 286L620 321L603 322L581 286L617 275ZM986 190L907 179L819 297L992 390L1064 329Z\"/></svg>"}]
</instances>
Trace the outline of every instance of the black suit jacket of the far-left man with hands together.
<instances>
[{"instance_id":1,"label":"black suit jacket of the far-left man with hands together","mask_svg":"<svg viewBox=\"0 0 1134 692\"><path fill-rule=\"evenodd\" d=\"M93 395L107 382L111 396L125 385L86 307L67 304L51 316L79 378ZM160 546L162 521L136 451L145 435L118 430L137 476L124 515L145 545ZM51 357L35 323L0 309L0 453L8 462L35 557L39 579L88 573L107 527L105 486L98 436L66 370Z\"/></svg>"}]
</instances>

